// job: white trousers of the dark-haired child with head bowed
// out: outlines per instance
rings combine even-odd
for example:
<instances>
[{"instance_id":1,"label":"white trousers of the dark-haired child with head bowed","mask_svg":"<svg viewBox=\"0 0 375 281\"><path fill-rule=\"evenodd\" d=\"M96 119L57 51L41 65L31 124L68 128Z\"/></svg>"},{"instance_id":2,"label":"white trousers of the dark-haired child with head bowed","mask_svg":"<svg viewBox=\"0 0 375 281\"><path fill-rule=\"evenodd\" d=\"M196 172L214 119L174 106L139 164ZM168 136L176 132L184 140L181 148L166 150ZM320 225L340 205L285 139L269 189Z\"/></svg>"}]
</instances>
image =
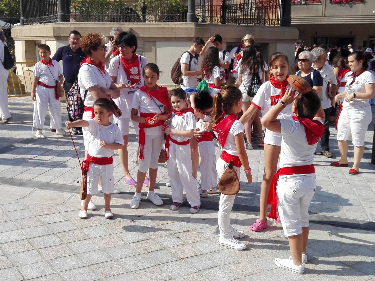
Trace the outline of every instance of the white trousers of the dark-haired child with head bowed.
<instances>
[{"instance_id":1,"label":"white trousers of the dark-haired child with head bowed","mask_svg":"<svg viewBox=\"0 0 375 281\"><path fill-rule=\"evenodd\" d=\"M198 142L198 147L199 155L201 155L201 163L199 165L201 188L202 190L210 190L210 188L215 188L217 185L215 145L213 142Z\"/></svg>"}]
</instances>

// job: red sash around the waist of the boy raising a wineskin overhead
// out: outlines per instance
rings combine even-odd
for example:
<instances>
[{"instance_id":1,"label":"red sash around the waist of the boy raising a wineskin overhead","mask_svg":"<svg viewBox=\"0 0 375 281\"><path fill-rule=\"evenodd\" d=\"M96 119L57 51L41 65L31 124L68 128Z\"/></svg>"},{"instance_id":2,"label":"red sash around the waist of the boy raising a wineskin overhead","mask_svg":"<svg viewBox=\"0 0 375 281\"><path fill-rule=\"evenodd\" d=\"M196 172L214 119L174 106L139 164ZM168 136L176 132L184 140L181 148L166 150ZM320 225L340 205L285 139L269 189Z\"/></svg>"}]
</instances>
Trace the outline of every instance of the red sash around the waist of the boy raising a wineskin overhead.
<instances>
[{"instance_id":1,"label":"red sash around the waist of the boy raising a wineskin overhead","mask_svg":"<svg viewBox=\"0 0 375 281\"><path fill-rule=\"evenodd\" d=\"M271 205L270 214L267 216L276 220L276 207L278 203L278 194L276 193L276 185L278 184L279 176L294 175L294 174L312 174L315 173L314 164L285 167L280 168L275 175L273 175L270 191L268 193L267 204Z\"/></svg>"}]
</instances>

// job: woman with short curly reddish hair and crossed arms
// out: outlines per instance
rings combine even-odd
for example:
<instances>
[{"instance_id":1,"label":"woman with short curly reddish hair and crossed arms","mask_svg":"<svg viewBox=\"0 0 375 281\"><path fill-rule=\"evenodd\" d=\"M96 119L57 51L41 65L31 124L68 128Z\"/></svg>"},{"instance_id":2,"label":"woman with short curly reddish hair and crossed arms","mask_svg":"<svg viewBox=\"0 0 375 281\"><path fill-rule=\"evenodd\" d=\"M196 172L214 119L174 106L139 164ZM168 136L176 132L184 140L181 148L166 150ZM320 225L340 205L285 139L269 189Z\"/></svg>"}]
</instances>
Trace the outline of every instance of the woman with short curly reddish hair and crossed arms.
<instances>
[{"instance_id":1,"label":"woman with short curly reddish hair and crossed arms","mask_svg":"<svg viewBox=\"0 0 375 281\"><path fill-rule=\"evenodd\" d=\"M78 85L84 100L83 120L91 120L95 117L93 107L95 100L120 97L120 90L112 81L103 64L106 52L105 41L105 36L99 33L87 33L81 38L81 49L87 55L81 62L80 72L78 72ZM88 147L87 133L86 130L83 130L85 148ZM85 153L86 157L87 151ZM101 191L100 186L99 191ZM116 189L114 192L120 193ZM83 206L83 201L81 201L81 206ZM84 210L95 210L95 208L96 206L91 200L88 202L88 206L84 206Z\"/></svg>"}]
</instances>

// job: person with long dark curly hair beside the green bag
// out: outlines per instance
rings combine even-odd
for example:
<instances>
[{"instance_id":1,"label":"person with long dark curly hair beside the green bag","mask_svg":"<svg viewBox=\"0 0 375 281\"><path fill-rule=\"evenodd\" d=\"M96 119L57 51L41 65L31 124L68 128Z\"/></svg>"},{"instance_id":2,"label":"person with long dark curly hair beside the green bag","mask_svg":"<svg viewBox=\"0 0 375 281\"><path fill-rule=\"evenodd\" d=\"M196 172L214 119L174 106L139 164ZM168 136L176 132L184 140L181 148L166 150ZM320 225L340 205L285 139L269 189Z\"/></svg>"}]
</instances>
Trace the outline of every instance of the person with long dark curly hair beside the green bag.
<instances>
[{"instance_id":1,"label":"person with long dark curly hair beside the green bag","mask_svg":"<svg viewBox=\"0 0 375 281\"><path fill-rule=\"evenodd\" d=\"M219 49L216 47L208 48L202 61L203 79L208 84L208 92L210 96L219 93L221 84L225 80L225 76L220 76L220 59Z\"/></svg>"}]
</instances>

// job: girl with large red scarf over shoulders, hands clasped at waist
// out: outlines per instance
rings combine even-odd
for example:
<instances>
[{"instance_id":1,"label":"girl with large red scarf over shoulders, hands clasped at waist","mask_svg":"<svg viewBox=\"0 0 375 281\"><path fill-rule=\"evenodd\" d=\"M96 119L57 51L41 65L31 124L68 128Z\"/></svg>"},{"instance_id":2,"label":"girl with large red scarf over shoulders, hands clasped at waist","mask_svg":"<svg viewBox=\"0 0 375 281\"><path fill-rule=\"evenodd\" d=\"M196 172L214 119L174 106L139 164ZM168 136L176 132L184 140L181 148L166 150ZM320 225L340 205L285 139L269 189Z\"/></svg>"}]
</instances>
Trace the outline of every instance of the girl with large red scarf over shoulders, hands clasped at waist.
<instances>
[{"instance_id":1,"label":"girl with large red scarf over shoulders, hands clasped at waist","mask_svg":"<svg viewBox=\"0 0 375 281\"><path fill-rule=\"evenodd\" d=\"M157 176L157 163L163 146L164 121L169 119L171 102L166 87L158 86L159 67L148 63L143 68L145 85L138 88L133 96L130 118L139 123L139 166L136 180L136 192L130 202L130 208L136 209L141 202L142 186L148 170L149 185L147 199L155 205L163 201L154 193ZM139 115L138 115L139 112Z\"/></svg>"}]
</instances>

